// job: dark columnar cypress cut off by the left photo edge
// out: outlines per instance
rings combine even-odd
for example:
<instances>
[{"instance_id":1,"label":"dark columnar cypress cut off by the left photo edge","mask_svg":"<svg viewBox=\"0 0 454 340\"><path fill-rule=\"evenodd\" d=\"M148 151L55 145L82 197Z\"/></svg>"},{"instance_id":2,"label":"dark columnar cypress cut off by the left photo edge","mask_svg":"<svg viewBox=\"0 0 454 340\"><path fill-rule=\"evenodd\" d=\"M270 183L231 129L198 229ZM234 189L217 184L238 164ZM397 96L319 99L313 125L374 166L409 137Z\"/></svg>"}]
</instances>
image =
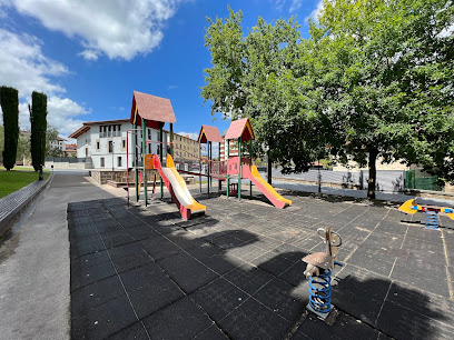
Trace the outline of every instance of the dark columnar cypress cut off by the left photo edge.
<instances>
[{"instance_id":1,"label":"dark columnar cypress cut off by the left photo edge","mask_svg":"<svg viewBox=\"0 0 454 340\"><path fill-rule=\"evenodd\" d=\"M19 91L13 88L0 88L0 104L3 111L4 148L3 166L11 170L16 164L19 138Z\"/></svg>"}]
</instances>

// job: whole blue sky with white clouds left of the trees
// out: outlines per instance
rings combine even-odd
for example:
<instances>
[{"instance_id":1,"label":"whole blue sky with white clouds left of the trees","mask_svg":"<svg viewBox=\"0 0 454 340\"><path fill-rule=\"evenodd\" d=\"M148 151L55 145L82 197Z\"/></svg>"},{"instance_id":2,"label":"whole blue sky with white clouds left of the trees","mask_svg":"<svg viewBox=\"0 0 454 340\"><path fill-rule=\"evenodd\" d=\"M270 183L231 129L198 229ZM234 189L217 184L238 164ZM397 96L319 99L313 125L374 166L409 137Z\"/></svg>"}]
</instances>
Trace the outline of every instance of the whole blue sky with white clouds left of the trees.
<instances>
[{"instance_id":1,"label":"whole blue sky with white clouds left of the trees","mask_svg":"<svg viewBox=\"0 0 454 340\"><path fill-rule=\"evenodd\" d=\"M229 122L203 106L200 88L211 66L206 17L226 18L228 4L245 30L259 16L295 16L307 37L320 0L0 0L0 86L19 90L22 129L33 90L48 94L48 121L63 137L83 121L128 118L137 90L171 100L176 132L223 132Z\"/></svg>"}]
</instances>

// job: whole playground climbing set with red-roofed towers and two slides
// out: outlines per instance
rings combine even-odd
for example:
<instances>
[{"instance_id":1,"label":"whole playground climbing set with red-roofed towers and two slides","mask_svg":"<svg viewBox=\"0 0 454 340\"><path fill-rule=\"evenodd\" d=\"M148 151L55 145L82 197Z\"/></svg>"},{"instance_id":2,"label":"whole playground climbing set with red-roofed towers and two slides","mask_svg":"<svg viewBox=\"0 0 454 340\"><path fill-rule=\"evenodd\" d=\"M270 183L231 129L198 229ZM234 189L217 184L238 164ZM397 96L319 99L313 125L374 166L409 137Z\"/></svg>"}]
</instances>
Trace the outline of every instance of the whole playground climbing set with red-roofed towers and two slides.
<instances>
[{"instance_id":1,"label":"whole playground climbing set with red-roofed towers and two slides","mask_svg":"<svg viewBox=\"0 0 454 340\"><path fill-rule=\"evenodd\" d=\"M221 182L227 183L227 197L238 194L238 200L241 199L241 179L250 181L250 196L253 193L253 183L265 194L265 197L279 209L286 206L292 206L292 201L279 196L276 190L269 186L258 173L258 170L253 166L253 140L255 139L253 128L247 118L233 121L226 133L227 140L227 159L224 161L213 160L213 143L220 143L223 138L219 130L210 126L201 126L198 142L199 142L199 171L190 172L185 170L177 170L174 163L174 123L176 122L175 113L171 108L170 100L155 97L141 92L134 91L130 122L134 128L127 131L127 164L129 167L129 134L132 140L132 167L135 178L135 196L136 200L140 198L140 187L144 187L144 202L148 204L148 179L147 169L156 169L160 177L160 198L164 198L164 184L166 184L170 196L181 213L181 217L188 220L194 214L203 214L206 207L198 203L186 187L184 179L178 172L184 172L199 178L199 192L201 192L201 177L207 177L208 194L213 190L213 180L217 179L219 182L219 191L221 190ZM164 141L164 126L170 124L170 142ZM159 140L152 141L146 138L146 128L159 130ZM141 134L141 146L138 142L138 136ZM230 157L230 140L236 140L238 144L238 157ZM243 143L249 142L248 158L243 157ZM147 146L150 143L158 144L158 154L147 154ZM166 144L166 149L164 146ZM201 150L203 144L207 144L207 173L203 173ZM166 167L162 167L164 154L166 152ZM220 156L220 154L219 154ZM129 187L129 176L127 176L127 187ZM155 192L156 176L154 180ZM128 191L129 202L129 191Z\"/></svg>"}]
</instances>

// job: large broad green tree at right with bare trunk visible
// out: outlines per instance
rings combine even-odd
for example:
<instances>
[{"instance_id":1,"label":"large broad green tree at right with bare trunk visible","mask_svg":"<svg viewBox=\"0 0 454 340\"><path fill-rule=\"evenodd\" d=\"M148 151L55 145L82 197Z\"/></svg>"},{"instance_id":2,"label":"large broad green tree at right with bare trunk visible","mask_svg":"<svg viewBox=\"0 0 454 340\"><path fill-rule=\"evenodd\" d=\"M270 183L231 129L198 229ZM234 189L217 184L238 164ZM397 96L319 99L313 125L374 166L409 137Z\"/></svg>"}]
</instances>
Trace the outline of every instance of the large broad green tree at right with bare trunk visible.
<instances>
[{"instance_id":1,"label":"large broad green tree at right with bare trunk visible","mask_svg":"<svg viewBox=\"0 0 454 340\"><path fill-rule=\"evenodd\" d=\"M310 23L312 51L323 62L314 74L319 99L339 127L337 153L368 163L369 199L378 157L446 162L433 149L438 131L444 146L453 140L453 39L442 34L450 24L447 0L325 0L319 24Z\"/></svg>"}]
</instances>

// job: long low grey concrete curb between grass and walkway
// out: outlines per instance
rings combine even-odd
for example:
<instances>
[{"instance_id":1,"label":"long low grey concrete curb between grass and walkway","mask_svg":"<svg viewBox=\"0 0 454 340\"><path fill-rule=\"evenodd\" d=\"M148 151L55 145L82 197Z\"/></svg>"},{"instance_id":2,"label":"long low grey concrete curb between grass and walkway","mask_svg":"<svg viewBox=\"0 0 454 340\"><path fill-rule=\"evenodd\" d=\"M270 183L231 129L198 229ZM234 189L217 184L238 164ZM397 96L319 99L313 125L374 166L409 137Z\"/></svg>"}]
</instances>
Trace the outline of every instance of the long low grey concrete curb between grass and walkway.
<instances>
[{"instance_id":1,"label":"long low grey concrete curb between grass and walkway","mask_svg":"<svg viewBox=\"0 0 454 340\"><path fill-rule=\"evenodd\" d=\"M38 196L49 186L52 179L53 173L51 173L42 184L37 184L38 181L34 181L0 199L0 238L12 229L22 213L26 212L26 210L34 202ZM30 192L28 193L28 191ZM26 199L21 199L20 196L28 197ZM3 209L9 209L9 212L3 213L4 211L1 211Z\"/></svg>"}]
</instances>

